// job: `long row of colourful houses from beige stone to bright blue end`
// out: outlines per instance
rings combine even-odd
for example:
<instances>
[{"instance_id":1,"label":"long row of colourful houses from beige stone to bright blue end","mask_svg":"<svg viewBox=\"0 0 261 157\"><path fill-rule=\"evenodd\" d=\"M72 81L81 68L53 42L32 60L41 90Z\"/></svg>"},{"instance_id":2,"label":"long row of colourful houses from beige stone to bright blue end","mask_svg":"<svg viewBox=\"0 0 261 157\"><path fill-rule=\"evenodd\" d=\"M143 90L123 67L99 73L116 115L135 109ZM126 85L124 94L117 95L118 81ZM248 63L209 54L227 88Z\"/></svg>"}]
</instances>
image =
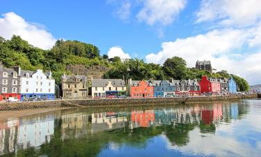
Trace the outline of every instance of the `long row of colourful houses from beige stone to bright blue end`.
<instances>
[{"instance_id":1,"label":"long row of colourful houses from beige stone to bright blue end","mask_svg":"<svg viewBox=\"0 0 261 157\"><path fill-rule=\"evenodd\" d=\"M88 88L89 87L89 88ZM127 84L121 79L88 79L84 75L62 76L63 98L105 98L131 96L173 97L200 96L201 94L235 94L237 85L232 79L207 78L202 80L132 80Z\"/></svg>"}]
</instances>

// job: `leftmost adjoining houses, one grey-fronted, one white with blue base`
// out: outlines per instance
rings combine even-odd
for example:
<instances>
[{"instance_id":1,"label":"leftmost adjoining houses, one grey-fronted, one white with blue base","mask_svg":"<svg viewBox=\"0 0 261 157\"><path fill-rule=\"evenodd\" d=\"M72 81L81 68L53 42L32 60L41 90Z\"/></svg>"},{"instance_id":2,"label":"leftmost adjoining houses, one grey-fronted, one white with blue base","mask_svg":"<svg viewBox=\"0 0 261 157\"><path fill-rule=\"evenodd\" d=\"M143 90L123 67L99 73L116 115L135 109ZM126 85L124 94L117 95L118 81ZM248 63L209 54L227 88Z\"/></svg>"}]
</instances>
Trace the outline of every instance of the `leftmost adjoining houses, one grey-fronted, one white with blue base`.
<instances>
[{"instance_id":1,"label":"leftmost adjoining houses, one grey-fronted, one white with blue base","mask_svg":"<svg viewBox=\"0 0 261 157\"><path fill-rule=\"evenodd\" d=\"M22 70L19 66L5 68L0 64L0 100L53 100L54 89L55 80L51 71Z\"/></svg>"}]
</instances>

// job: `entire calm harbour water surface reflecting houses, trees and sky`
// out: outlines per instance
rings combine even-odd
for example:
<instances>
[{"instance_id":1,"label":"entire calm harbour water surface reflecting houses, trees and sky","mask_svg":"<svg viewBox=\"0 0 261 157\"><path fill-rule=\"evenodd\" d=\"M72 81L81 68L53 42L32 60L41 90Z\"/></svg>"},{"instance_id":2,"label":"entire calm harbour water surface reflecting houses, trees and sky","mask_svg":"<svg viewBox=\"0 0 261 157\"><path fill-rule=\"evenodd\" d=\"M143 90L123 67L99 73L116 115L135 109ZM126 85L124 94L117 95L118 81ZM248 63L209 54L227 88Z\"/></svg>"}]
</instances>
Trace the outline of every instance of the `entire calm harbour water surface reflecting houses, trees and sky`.
<instances>
[{"instance_id":1,"label":"entire calm harbour water surface reflecting houses, trees and sky","mask_svg":"<svg viewBox=\"0 0 261 157\"><path fill-rule=\"evenodd\" d=\"M0 156L261 156L261 100L7 119Z\"/></svg>"}]
</instances>

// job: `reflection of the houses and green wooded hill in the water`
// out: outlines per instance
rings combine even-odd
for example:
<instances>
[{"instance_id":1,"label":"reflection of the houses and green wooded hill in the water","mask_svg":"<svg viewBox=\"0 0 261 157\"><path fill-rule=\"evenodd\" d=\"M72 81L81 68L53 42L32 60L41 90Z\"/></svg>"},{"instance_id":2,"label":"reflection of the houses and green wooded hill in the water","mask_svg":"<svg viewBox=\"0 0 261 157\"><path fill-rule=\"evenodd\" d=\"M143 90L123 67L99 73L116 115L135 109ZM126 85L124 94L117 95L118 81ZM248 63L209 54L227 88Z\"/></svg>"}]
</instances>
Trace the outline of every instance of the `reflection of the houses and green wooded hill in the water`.
<instances>
[{"instance_id":1,"label":"reflection of the houses and green wooded hill in the water","mask_svg":"<svg viewBox=\"0 0 261 157\"><path fill-rule=\"evenodd\" d=\"M153 147L152 143L167 142L168 146L161 146L162 150L158 151L174 148L175 152L168 151L171 156L178 154L177 147L185 149L196 141L191 142L194 137L190 135L196 130L199 130L193 135L196 137L214 135L217 128L246 117L249 110L249 101L241 101L175 107L61 110L7 119L0 122L0 155L17 156L26 152L26 156L119 156L111 151L120 153L126 147L141 151L143 149L139 148ZM148 143L150 140L152 143ZM135 155L134 151L125 155L131 154Z\"/></svg>"}]
</instances>

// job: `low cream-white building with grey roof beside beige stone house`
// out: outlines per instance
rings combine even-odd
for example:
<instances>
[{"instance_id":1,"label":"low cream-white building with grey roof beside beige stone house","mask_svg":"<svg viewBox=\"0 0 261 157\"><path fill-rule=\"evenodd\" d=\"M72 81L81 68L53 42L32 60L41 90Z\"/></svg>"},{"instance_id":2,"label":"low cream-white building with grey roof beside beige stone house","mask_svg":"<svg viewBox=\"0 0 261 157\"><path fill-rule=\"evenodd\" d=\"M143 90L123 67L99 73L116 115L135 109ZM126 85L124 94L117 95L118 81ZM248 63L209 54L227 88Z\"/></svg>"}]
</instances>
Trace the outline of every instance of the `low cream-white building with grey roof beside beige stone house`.
<instances>
[{"instance_id":1,"label":"low cream-white building with grey roof beside beige stone house","mask_svg":"<svg viewBox=\"0 0 261 157\"><path fill-rule=\"evenodd\" d=\"M127 87L121 79L92 79L91 93L93 98L126 96Z\"/></svg>"}]
</instances>

